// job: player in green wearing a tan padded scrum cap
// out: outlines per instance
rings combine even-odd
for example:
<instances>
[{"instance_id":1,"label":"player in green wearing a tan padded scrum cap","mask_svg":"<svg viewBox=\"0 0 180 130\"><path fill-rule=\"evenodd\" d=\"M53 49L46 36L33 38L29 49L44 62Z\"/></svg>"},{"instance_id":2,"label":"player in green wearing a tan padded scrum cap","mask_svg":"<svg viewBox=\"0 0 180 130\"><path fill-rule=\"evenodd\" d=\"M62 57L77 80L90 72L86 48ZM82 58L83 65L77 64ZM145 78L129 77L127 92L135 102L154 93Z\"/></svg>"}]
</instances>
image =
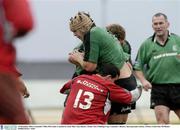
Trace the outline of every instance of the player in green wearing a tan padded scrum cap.
<instances>
[{"instance_id":1,"label":"player in green wearing a tan padded scrum cap","mask_svg":"<svg viewBox=\"0 0 180 130\"><path fill-rule=\"evenodd\" d=\"M70 29L74 36L79 38L84 45L84 56L76 51L69 56L69 61L81 66L86 72L101 72L104 64L113 64L120 70L120 77L116 84L122 86L123 83L127 90L134 90L137 86L136 79L132 75L132 70L127 64L118 39L107 32L104 28L95 26L89 14L79 12L70 20ZM120 120L121 111L129 113L131 106L121 110L119 103L112 103L112 113L109 124L125 124Z\"/></svg>"}]
</instances>

